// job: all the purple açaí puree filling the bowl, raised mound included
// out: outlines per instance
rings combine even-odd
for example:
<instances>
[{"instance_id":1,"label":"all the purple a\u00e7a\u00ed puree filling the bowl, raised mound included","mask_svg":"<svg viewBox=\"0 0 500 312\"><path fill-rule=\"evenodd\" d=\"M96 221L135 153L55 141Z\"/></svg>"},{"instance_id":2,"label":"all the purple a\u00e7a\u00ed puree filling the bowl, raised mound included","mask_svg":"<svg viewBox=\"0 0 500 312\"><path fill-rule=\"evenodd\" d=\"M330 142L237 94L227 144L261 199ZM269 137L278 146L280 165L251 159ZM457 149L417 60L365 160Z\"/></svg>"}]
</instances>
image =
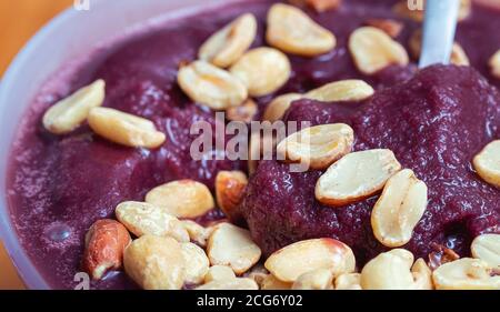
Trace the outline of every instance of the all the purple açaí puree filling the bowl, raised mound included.
<instances>
[{"instance_id":1,"label":"all the purple a\u00e7a\u00ed puree filling the bowl, raised mound included","mask_svg":"<svg viewBox=\"0 0 500 312\"><path fill-rule=\"evenodd\" d=\"M266 14L273 2L249 1L167 22L106 49L66 81L71 85L68 92L39 94L12 150L8 192L21 243L51 286L76 285L73 276L80 270L86 231L98 219L113 218L118 203L143 200L151 188L184 178L213 189L219 170L246 170L244 162L191 159L190 143L196 135L189 134L190 125L197 120L214 124L216 120L213 112L181 92L177 71L180 63L196 59L211 33L244 12L254 13L259 20L254 46L264 44ZM288 84L257 100L264 108L284 92L303 92L348 78L369 82L378 90L369 102L298 102L287 118L317 124L344 121L356 130L356 149L393 149L403 165L413 169L430 189L429 210L408 248L424 255L430 242L450 242L467 253L464 245L472 235L498 229L499 191L474 175L470 159L499 135L500 98L468 68L431 68L407 84L401 83L413 77L414 66L391 67L371 78L362 76L346 48L348 37L370 18L399 19L390 10L394 2L350 0L337 11L308 11L333 31L337 48L312 59L290 56L293 71ZM418 23L402 22L404 29L397 40L408 48ZM472 67L496 87L500 81L489 74L487 62L500 48L499 29L499 12L474 7L457 36ZM43 129L41 115L48 107L98 78L107 82L104 105L151 119L167 134L160 149L118 147L98 138L87 125L63 137ZM322 207L312 191L319 174L289 174L283 164L261 162L241 211L263 251L269 254L286 243L320 235L344 240L361 262L382 250L368 221L376 198L338 210ZM213 214L210 218L219 215ZM91 286L134 288L119 272Z\"/></svg>"}]
</instances>

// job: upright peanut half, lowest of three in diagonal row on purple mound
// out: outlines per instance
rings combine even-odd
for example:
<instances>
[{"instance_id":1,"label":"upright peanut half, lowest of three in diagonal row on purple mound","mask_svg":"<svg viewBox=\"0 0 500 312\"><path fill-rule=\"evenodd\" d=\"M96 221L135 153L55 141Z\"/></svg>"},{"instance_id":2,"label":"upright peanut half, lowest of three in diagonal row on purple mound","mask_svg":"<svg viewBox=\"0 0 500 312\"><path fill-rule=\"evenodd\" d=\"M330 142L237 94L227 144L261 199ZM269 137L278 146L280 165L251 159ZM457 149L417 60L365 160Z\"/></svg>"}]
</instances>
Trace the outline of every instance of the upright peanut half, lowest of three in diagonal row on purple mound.
<instances>
[{"instance_id":1,"label":"upright peanut half, lowest of three in diagonal row on purple mound","mask_svg":"<svg viewBox=\"0 0 500 312\"><path fill-rule=\"evenodd\" d=\"M386 183L371 212L371 227L386 246L402 246L427 208L427 185L410 169L401 170Z\"/></svg>"}]
</instances>

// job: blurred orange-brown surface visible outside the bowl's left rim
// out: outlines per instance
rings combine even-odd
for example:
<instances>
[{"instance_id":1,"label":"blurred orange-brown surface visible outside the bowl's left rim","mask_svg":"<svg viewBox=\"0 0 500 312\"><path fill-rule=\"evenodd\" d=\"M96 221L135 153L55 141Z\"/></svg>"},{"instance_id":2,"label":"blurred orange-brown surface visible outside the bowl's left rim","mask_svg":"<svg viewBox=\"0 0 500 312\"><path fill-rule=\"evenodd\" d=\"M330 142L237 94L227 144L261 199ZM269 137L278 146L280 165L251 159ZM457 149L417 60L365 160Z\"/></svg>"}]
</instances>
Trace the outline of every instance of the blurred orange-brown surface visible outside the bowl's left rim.
<instances>
[{"instance_id":1,"label":"blurred orange-brown surface visible outside the bowl's left rim","mask_svg":"<svg viewBox=\"0 0 500 312\"><path fill-rule=\"evenodd\" d=\"M0 78L24 43L73 0L0 0ZM24 289L0 241L0 289Z\"/></svg>"}]
</instances>

